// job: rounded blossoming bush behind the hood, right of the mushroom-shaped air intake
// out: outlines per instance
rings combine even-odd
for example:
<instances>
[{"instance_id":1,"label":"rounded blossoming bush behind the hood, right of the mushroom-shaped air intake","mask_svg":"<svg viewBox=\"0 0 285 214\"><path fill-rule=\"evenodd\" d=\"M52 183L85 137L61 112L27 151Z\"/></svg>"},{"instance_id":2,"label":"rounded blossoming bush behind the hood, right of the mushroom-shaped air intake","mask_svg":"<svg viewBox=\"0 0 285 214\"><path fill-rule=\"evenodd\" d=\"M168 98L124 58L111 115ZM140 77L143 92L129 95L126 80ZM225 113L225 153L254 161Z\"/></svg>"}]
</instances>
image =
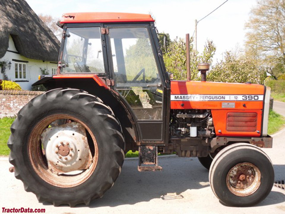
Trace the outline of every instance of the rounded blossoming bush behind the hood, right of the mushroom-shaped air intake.
<instances>
[{"instance_id":1,"label":"rounded blossoming bush behind the hood, right of the mushroom-shaped air intake","mask_svg":"<svg viewBox=\"0 0 285 214\"><path fill-rule=\"evenodd\" d=\"M263 84L265 70L254 59L245 55L239 57L232 52L225 52L224 59L215 64L207 75L207 80L216 82Z\"/></svg>"}]
</instances>

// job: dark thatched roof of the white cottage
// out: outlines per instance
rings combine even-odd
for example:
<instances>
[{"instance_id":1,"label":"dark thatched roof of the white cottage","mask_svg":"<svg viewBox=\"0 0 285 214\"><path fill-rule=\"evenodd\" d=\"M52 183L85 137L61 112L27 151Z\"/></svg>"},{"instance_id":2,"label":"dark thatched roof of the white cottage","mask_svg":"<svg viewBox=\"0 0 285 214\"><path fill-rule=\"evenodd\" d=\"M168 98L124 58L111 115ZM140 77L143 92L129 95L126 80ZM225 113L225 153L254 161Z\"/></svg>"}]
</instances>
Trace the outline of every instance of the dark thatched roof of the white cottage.
<instances>
[{"instance_id":1,"label":"dark thatched roof of the white cottage","mask_svg":"<svg viewBox=\"0 0 285 214\"><path fill-rule=\"evenodd\" d=\"M58 39L25 0L0 0L0 58L7 51L9 35L21 55L57 62Z\"/></svg>"}]
</instances>

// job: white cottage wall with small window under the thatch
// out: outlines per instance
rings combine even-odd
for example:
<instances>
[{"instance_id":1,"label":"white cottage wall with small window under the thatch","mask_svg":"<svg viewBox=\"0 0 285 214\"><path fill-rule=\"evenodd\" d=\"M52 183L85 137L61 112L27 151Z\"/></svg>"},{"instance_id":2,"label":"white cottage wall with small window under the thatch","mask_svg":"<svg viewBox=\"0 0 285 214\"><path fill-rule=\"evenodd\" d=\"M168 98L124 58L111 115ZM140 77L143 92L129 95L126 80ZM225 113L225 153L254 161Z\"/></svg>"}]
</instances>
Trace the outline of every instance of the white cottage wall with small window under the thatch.
<instances>
[{"instance_id":1,"label":"white cottage wall with small window under the thatch","mask_svg":"<svg viewBox=\"0 0 285 214\"><path fill-rule=\"evenodd\" d=\"M14 42L11 36L9 36L8 50L18 52L17 49L15 48L15 45L14 45ZM16 54L16 53L9 52L9 51L7 51L6 54L2 58L0 58L0 61L7 60L8 63L9 62L12 63L10 69L7 66L6 75L9 80L17 82L21 86L22 90L31 89L31 85L38 80L39 75L42 75L40 68L42 69L46 68L50 74L52 74L52 68L55 68L55 69L57 68L57 64L53 64L47 61L43 62L42 60L29 59L20 54ZM26 65L27 66L26 80L20 81L20 80L15 79L15 63L17 62L12 61L12 59L28 61L28 63L26 63L27 64ZM1 72L0 72L0 79L4 79L4 74L2 74Z\"/></svg>"}]
</instances>

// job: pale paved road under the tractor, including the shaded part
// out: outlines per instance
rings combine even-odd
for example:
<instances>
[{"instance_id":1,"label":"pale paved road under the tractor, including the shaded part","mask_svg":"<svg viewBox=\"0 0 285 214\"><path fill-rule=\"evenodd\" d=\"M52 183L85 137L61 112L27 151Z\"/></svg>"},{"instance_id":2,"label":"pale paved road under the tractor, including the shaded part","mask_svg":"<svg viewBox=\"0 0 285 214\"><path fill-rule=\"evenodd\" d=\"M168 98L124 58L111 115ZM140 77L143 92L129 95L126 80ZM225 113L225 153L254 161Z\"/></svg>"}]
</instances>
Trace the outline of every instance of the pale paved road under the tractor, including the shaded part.
<instances>
[{"instance_id":1,"label":"pale paved road under the tractor, including the shaded part","mask_svg":"<svg viewBox=\"0 0 285 214\"><path fill-rule=\"evenodd\" d=\"M274 136L270 156L275 179L285 179L285 129ZM3 159L3 158L2 158ZM176 156L159 158L163 171L138 172L138 160L125 160L121 175L113 188L89 206L53 207L39 203L33 193L24 191L20 180L9 173L9 162L0 161L1 207L45 208L45 213L285 213L285 191L273 186L267 198L255 207L226 207L214 196L208 180L208 171L197 158ZM162 196L172 194L169 200ZM177 194L177 196L175 196ZM0 207L0 208L1 208Z\"/></svg>"}]
</instances>

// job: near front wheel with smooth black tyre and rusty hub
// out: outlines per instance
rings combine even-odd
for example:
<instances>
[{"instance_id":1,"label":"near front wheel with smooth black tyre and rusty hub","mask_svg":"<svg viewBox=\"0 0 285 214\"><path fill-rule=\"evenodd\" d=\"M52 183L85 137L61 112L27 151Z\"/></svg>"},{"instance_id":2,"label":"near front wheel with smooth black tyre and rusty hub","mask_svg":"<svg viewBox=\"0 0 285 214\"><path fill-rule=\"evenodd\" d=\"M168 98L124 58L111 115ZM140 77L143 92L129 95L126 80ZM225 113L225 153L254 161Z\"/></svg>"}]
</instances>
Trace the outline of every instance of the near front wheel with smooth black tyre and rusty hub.
<instances>
[{"instance_id":1,"label":"near front wheel with smooth black tyre and rusty hub","mask_svg":"<svg viewBox=\"0 0 285 214\"><path fill-rule=\"evenodd\" d=\"M222 203L237 207L253 206L271 191L273 165L258 147L236 143L221 150L213 159L209 181Z\"/></svg>"}]
</instances>

